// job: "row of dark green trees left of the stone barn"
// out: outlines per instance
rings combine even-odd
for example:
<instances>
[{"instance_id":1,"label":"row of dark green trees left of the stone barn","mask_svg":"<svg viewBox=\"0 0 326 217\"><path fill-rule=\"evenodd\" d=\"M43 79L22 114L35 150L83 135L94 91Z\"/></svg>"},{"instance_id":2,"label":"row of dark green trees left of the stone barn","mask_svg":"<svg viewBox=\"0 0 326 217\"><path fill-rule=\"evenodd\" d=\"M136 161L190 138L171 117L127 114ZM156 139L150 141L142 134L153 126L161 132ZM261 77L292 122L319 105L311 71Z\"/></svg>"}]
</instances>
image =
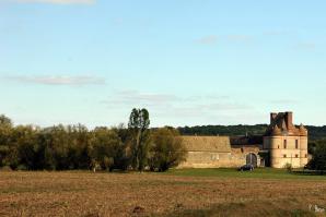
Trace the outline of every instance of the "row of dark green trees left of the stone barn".
<instances>
[{"instance_id":1,"label":"row of dark green trees left of the stone barn","mask_svg":"<svg viewBox=\"0 0 326 217\"><path fill-rule=\"evenodd\" d=\"M138 170L165 171L186 157L173 128L149 129L147 109L132 109L128 126L82 124L14 126L0 116L0 168L13 170Z\"/></svg>"}]
</instances>

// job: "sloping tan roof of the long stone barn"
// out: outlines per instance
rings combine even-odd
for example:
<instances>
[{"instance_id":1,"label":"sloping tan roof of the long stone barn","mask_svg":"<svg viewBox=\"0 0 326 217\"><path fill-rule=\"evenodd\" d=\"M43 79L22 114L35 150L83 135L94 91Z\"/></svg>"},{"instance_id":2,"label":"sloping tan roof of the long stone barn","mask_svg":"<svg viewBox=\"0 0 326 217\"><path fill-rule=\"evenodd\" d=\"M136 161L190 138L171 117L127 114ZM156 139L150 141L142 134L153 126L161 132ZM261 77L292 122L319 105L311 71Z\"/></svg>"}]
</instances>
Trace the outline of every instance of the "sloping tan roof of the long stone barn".
<instances>
[{"instance_id":1,"label":"sloping tan roof of the long stone barn","mask_svg":"<svg viewBox=\"0 0 326 217\"><path fill-rule=\"evenodd\" d=\"M188 152L231 153L229 136L182 136Z\"/></svg>"}]
</instances>

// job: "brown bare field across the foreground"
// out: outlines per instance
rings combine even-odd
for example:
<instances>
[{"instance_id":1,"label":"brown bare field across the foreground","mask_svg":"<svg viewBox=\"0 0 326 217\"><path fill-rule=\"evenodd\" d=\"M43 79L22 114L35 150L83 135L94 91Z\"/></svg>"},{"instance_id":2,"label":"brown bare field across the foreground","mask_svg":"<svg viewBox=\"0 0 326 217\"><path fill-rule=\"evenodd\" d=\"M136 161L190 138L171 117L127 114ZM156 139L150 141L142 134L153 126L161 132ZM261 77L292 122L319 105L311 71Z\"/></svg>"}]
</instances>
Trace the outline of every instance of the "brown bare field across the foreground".
<instances>
[{"instance_id":1,"label":"brown bare field across the foreground","mask_svg":"<svg viewBox=\"0 0 326 217\"><path fill-rule=\"evenodd\" d=\"M323 216L315 206L325 180L0 172L0 216Z\"/></svg>"}]
</instances>

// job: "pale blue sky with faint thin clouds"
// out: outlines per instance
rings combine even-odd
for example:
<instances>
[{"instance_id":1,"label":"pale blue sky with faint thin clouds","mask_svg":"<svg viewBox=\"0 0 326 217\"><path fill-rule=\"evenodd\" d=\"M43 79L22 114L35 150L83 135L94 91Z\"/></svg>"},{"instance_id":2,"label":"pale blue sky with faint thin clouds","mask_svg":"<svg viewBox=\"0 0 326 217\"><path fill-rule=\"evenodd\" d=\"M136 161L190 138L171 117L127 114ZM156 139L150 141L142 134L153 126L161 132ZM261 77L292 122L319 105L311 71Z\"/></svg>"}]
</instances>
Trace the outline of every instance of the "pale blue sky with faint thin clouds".
<instances>
[{"instance_id":1,"label":"pale blue sky with faint thin clouds","mask_svg":"<svg viewBox=\"0 0 326 217\"><path fill-rule=\"evenodd\" d=\"M326 124L325 0L0 0L15 124Z\"/></svg>"}]
</instances>

